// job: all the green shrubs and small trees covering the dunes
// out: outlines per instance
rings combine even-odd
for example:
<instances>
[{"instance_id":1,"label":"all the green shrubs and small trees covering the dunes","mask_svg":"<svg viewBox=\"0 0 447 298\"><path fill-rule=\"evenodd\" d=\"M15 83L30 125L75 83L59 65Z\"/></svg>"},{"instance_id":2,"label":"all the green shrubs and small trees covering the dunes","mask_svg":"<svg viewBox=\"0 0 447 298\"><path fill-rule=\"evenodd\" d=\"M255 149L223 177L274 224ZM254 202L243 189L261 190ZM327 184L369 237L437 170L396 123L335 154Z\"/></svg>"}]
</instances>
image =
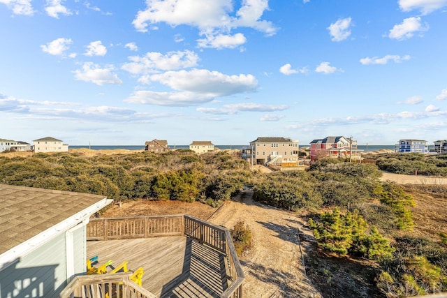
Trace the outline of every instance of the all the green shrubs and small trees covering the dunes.
<instances>
[{"instance_id":1,"label":"all the green shrubs and small trees covering the dunes","mask_svg":"<svg viewBox=\"0 0 447 298\"><path fill-rule=\"evenodd\" d=\"M217 206L250 186L258 202L305 211L323 253L370 262L363 277L382 295L404 297L446 290L447 232L439 233L439 241L410 236L415 200L402 186L379 181L379 169L442 174L447 173L447 158L395 154L379 158L377 165L321 159L306 171L253 174L245 161L228 151L93 157L76 152L29 158L0 155L1 184L94 193L115 200L200 200ZM434 187L432 192L447 198L446 188L441 188ZM233 239L238 253L249 249L251 233L244 223L237 223ZM310 261L325 266L316 258ZM339 268L321 272L329 281Z\"/></svg>"}]
</instances>

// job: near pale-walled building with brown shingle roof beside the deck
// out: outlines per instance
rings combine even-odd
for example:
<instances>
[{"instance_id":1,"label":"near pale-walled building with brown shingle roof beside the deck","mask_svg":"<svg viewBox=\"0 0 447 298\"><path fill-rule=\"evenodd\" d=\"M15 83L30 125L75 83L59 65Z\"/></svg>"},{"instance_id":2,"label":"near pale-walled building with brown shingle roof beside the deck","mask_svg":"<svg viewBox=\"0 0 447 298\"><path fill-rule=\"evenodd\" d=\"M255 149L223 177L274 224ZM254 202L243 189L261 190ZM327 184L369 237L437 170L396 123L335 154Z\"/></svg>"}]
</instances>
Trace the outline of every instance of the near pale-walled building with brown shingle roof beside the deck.
<instances>
[{"instance_id":1,"label":"near pale-walled building with brown shingle roof beside the deck","mask_svg":"<svg viewBox=\"0 0 447 298\"><path fill-rule=\"evenodd\" d=\"M85 274L86 225L112 200L0 184L1 297L59 297Z\"/></svg>"}]
</instances>

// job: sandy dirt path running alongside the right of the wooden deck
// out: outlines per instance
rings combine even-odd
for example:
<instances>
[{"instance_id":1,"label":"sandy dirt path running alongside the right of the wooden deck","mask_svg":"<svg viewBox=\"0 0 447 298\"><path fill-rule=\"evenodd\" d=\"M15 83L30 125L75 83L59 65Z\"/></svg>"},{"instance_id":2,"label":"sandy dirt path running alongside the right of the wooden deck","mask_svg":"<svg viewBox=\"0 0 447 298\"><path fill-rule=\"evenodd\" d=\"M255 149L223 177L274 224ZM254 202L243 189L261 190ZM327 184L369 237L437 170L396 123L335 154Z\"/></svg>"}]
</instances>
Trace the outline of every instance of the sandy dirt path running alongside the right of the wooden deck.
<instances>
[{"instance_id":1,"label":"sandy dirt path running alongside the right of the wooden deck","mask_svg":"<svg viewBox=\"0 0 447 298\"><path fill-rule=\"evenodd\" d=\"M251 252L242 258L244 297L321 297L305 276L298 232L300 218L286 211L257 204L251 191L240 200L225 202L210 222L232 229L244 221L254 240Z\"/></svg>"}]
</instances>

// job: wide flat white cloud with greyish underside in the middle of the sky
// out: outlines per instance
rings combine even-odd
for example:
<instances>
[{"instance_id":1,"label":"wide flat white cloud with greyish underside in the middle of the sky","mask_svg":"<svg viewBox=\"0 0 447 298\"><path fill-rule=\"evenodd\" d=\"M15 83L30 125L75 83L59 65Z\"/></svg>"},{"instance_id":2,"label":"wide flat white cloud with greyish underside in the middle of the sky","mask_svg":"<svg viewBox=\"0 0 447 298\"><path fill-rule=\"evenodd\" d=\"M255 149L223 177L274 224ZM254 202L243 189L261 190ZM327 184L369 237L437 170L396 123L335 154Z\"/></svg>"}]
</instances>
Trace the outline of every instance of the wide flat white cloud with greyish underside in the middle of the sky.
<instances>
[{"instance_id":1,"label":"wide flat white cloud with greyish underside in the middle of the sky","mask_svg":"<svg viewBox=\"0 0 447 298\"><path fill-rule=\"evenodd\" d=\"M174 91L135 91L125 101L149 105L199 105L219 96L251 92L258 86L253 75L224 75L205 69L168 71L150 75L148 80L159 82Z\"/></svg>"}]
</instances>

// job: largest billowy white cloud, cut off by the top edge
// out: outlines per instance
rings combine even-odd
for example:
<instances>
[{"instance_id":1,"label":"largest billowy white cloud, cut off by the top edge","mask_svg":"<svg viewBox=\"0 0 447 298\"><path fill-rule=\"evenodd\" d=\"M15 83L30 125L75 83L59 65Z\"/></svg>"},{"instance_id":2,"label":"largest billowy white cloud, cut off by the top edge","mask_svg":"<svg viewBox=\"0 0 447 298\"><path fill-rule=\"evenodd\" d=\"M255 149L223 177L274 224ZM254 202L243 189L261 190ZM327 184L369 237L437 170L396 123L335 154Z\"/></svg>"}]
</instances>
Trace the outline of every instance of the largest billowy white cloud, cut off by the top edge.
<instances>
[{"instance_id":1,"label":"largest billowy white cloud, cut off by the top edge","mask_svg":"<svg viewBox=\"0 0 447 298\"><path fill-rule=\"evenodd\" d=\"M138 11L132 24L138 31L147 31L148 24L165 22L172 27L182 24L199 29L200 46L235 47L245 42L242 33L232 29L249 27L272 36L277 32L272 22L261 20L268 10L268 0L243 0L234 13L231 0L147 0L147 8ZM156 29L152 28L152 29Z\"/></svg>"}]
</instances>

